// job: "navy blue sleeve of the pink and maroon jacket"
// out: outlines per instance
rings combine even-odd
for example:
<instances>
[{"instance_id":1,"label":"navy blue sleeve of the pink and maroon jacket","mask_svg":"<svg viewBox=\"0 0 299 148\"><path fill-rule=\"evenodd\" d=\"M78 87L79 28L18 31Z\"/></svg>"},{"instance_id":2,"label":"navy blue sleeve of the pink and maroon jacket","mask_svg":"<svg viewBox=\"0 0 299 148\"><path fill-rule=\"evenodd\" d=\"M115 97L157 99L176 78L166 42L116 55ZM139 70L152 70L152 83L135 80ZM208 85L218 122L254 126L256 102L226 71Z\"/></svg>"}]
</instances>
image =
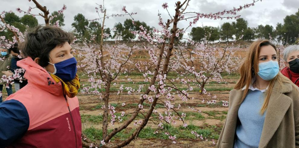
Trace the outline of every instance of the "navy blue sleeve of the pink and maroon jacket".
<instances>
[{"instance_id":1,"label":"navy blue sleeve of the pink and maroon jacket","mask_svg":"<svg viewBox=\"0 0 299 148\"><path fill-rule=\"evenodd\" d=\"M5 148L24 136L29 128L29 115L17 100L0 103L0 148Z\"/></svg>"}]
</instances>

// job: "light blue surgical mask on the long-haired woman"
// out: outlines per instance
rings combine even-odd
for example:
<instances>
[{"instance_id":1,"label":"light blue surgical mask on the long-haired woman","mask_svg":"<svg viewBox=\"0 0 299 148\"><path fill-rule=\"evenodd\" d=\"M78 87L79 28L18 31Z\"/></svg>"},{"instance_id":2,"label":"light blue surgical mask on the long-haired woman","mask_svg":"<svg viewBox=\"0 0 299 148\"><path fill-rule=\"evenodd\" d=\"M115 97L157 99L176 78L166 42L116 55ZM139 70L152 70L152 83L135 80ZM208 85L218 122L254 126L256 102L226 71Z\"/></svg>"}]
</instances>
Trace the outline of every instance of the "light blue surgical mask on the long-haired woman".
<instances>
[{"instance_id":1,"label":"light blue surgical mask on the long-haired woman","mask_svg":"<svg viewBox=\"0 0 299 148\"><path fill-rule=\"evenodd\" d=\"M268 61L259 63L259 72L257 73L262 79L272 80L279 72L278 61Z\"/></svg>"}]
</instances>

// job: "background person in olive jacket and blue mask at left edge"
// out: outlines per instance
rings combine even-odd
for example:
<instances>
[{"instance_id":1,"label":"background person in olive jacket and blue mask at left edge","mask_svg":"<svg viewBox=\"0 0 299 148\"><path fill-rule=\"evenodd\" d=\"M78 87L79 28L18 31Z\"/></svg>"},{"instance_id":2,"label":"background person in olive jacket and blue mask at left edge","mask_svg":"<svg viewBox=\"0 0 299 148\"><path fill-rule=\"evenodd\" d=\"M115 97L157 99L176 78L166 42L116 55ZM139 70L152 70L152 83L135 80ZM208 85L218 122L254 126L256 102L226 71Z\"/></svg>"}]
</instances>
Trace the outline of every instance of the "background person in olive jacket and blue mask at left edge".
<instances>
[{"instance_id":1,"label":"background person in olive jacket and blue mask at left edge","mask_svg":"<svg viewBox=\"0 0 299 148\"><path fill-rule=\"evenodd\" d=\"M3 72L9 70L9 66L11 64L12 55L8 52L7 49L0 49L0 78L5 75ZM11 84L6 87L6 82L0 82L0 92L2 93L3 85L5 85L8 96L12 94ZM2 95L0 96L0 103L2 102Z\"/></svg>"}]
</instances>

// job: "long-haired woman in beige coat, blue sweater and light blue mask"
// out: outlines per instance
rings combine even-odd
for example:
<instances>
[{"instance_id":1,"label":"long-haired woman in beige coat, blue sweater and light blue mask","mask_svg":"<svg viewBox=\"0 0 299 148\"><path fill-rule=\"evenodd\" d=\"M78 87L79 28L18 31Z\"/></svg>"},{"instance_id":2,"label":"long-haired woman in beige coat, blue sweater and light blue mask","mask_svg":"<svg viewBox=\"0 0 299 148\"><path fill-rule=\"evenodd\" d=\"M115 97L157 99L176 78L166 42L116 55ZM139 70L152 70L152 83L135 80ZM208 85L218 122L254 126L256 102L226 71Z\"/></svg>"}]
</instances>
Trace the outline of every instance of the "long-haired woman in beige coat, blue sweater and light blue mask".
<instances>
[{"instance_id":1,"label":"long-haired woman in beige coat, blue sweater and light blue mask","mask_svg":"<svg viewBox=\"0 0 299 148\"><path fill-rule=\"evenodd\" d=\"M257 40L230 91L217 147L297 147L298 107L298 87L279 72L276 47L268 40Z\"/></svg>"}]
</instances>

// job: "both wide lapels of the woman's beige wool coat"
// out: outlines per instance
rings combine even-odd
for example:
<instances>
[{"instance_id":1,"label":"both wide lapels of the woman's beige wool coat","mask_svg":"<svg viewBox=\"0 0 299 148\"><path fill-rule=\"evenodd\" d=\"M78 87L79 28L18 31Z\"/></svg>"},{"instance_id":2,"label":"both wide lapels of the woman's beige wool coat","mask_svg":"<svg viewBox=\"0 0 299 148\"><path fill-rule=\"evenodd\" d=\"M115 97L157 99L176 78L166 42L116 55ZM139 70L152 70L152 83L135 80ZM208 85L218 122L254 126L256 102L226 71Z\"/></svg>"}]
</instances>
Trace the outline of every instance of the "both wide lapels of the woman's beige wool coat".
<instances>
[{"instance_id":1,"label":"both wide lapels of the woman's beige wool coat","mask_svg":"<svg viewBox=\"0 0 299 148\"><path fill-rule=\"evenodd\" d=\"M291 98L286 96L284 93L290 93L291 91L292 85L289 83L282 83L282 85L279 82L274 83L272 95L270 96L268 108L266 110L259 147L265 147L268 144L280 125L292 102ZM230 147L233 147L234 143L238 110L242 103L241 100L244 90L232 90L232 92L233 95L230 96L232 104L230 104L230 109L225 123L226 127L224 128L222 136L222 142L227 143Z\"/></svg>"}]
</instances>

